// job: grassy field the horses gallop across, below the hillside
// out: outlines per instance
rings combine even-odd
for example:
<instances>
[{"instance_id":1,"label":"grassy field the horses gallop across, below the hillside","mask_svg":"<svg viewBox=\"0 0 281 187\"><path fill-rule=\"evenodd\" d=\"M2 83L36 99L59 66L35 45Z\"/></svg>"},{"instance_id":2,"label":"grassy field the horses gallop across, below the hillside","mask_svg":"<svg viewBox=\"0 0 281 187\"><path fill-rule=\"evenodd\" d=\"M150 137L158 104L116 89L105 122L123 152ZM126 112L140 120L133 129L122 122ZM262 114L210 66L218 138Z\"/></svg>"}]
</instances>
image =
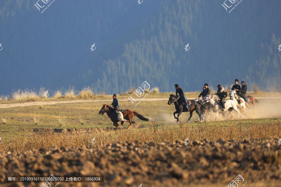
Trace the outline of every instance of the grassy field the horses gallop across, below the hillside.
<instances>
[{"instance_id":1,"label":"grassy field the horses gallop across, below the hillside","mask_svg":"<svg viewBox=\"0 0 281 187\"><path fill-rule=\"evenodd\" d=\"M195 98L197 93L187 93L186 95L187 97ZM119 95L118 98L126 99L128 96L129 94L124 94ZM220 137L226 139L241 137L279 137L281 136L280 131L276 129L278 129L278 127L280 129L279 125L281 116L279 113L279 106L281 106L281 99L266 99L267 97L276 96L274 93L268 94L267 97L265 97L265 94L263 94L263 96L264 99L259 99L260 103L256 108L247 109L243 114L246 115L246 118L244 119L236 116L236 113L234 112L234 120L225 121L227 115L220 115L219 122L211 122L214 117L211 114L209 122L198 123L196 122L198 115L194 112L190 123L185 124L182 122L181 124L177 124L173 117L175 106L167 104L169 94L151 93L146 98L164 98L165 100L144 99L137 107L132 105L129 100L120 101L122 109L130 109L150 118L150 122L145 122L134 117L133 121L135 121L136 124L132 125L129 130L126 129L128 123L124 124L123 129L116 130L109 118L105 118L98 114L102 104L111 104L111 101L105 101L111 100L111 96L97 98L102 100L96 100L96 102L56 103L52 105L42 105L38 102L38 105L35 106L0 108L0 116L7 120L6 124L0 124L0 137L6 142L5 144L0 145L0 150L32 149L37 146L88 145L90 144L90 137L100 137L100 139L97 140L99 143L133 141L136 139L139 139L140 141L175 141L176 139L183 139L186 136L193 136L196 140L205 138L215 140ZM7 101L4 102L6 103ZM14 101L10 102L13 103ZM105 116L107 117L107 115ZM180 117L185 118L186 121L186 118L189 117L189 113L182 113ZM220 129L220 131L215 130L215 128L220 127L223 127L223 129ZM247 130L251 127L255 127L256 129L251 129L251 133L247 133ZM264 129L267 129L268 127L270 127L268 132L264 134ZM54 133L58 130L55 132L46 130L73 128L94 128L96 130L86 131L84 134L72 132L66 133L67 136L71 135L69 136L71 141L67 141L67 144L62 141L64 138L67 138L65 134L63 135L60 133L54 136ZM213 130L210 128L213 128ZM243 133L239 134L236 132L236 135L232 136L231 130L236 131L237 128ZM185 131L185 133L181 134L180 131ZM209 133L208 131L212 133ZM199 132L204 132L205 135L199 136L199 134L204 134L199 133L194 136L196 132L197 134ZM141 135L145 138L141 138ZM46 141L44 143L43 141L46 137L49 137L50 141L48 141L48 143L46 143ZM76 141L76 139L80 141ZM21 144L22 146L20 146ZM14 145L18 146L15 147Z\"/></svg>"}]
</instances>

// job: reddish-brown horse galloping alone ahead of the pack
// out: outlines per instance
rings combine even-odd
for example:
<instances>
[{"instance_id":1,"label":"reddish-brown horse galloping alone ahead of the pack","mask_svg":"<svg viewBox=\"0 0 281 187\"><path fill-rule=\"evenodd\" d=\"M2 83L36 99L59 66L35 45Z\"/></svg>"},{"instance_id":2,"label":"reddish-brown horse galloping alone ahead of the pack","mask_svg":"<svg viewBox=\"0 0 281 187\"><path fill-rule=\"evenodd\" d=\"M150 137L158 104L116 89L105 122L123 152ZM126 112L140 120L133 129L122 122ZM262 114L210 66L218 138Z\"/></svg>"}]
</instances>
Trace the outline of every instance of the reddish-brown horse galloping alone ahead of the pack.
<instances>
[{"instance_id":1,"label":"reddish-brown horse galloping alone ahead of the pack","mask_svg":"<svg viewBox=\"0 0 281 187\"><path fill-rule=\"evenodd\" d=\"M120 128L120 126L118 125L118 122L119 120L116 119L116 116L115 116L115 112L114 112L114 108L106 105L106 104L103 104L99 114L103 115L104 113L107 114L107 116L111 119L111 121L113 122L113 125L117 128ZM132 124L135 124L136 122L133 122L132 121L132 118L136 115L136 117L138 117L140 120L143 120L143 121L149 121L148 118L146 117L143 117L141 114L137 113L137 112L133 112L129 109L127 110L123 110L123 117L124 119L128 120L130 122L130 125L128 128L131 127ZM124 122L121 122L121 125L123 126Z\"/></svg>"}]
</instances>

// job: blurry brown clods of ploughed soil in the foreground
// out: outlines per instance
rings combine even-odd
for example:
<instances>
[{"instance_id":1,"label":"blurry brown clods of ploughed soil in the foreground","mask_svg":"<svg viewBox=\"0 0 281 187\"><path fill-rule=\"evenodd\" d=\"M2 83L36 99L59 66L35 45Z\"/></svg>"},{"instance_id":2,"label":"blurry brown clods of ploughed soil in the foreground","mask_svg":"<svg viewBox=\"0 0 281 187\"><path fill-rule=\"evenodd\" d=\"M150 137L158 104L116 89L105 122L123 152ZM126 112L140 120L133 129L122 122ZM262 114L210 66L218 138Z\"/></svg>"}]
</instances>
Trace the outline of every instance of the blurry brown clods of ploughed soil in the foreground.
<instances>
[{"instance_id":1,"label":"blurry brown clods of ploughed soil in the foreground","mask_svg":"<svg viewBox=\"0 0 281 187\"><path fill-rule=\"evenodd\" d=\"M66 140L67 141L67 140ZM0 152L0 186L5 175L104 175L104 183L57 186L227 186L240 174L245 186L281 186L278 138L215 142L131 142L90 147Z\"/></svg>"}]
</instances>

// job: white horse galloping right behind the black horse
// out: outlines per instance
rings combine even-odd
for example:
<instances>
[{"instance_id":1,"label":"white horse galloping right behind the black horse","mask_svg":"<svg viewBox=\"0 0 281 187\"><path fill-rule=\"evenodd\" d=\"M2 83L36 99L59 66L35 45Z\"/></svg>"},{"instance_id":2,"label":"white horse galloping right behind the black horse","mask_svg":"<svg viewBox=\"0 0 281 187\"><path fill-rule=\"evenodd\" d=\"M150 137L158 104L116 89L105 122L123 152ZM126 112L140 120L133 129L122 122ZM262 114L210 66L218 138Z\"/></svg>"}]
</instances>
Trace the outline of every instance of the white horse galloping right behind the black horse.
<instances>
[{"instance_id":1,"label":"white horse galloping right behind the black horse","mask_svg":"<svg viewBox=\"0 0 281 187\"><path fill-rule=\"evenodd\" d=\"M216 121L218 120L219 109L220 109L219 108L220 105L219 105L218 101L219 101L219 97L217 95L213 95L212 98L205 97L204 99L201 100L202 103L210 102L215 107ZM243 118L243 116L239 112L238 108L240 109L240 111L244 111L244 108L241 108L239 106L239 104L236 104L233 100L228 99L224 103L224 109L221 109L221 110L229 112L229 115L228 115L227 119L229 119L230 115L232 116L232 119L233 119L232 110L235 110L241 116L241 118ZM210 116L210 110L209 110L209 114L208 115Z\"/></svg>"}]
</instances>

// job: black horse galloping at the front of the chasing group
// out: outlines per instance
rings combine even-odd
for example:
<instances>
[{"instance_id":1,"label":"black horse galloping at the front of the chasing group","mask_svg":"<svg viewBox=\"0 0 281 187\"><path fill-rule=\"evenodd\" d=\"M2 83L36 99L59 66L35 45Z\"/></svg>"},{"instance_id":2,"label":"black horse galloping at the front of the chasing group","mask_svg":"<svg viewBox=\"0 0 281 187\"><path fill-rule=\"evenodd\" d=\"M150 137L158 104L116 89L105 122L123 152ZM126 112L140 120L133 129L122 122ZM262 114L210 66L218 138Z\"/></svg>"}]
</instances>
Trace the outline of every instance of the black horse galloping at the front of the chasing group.
<instances>
[{"instance_id":1,"label":"black horse galloping at the front of the chasing group","mask_svg":"<svg viewBox=\"0 0 281 187\"><path fill-rule=\"evenodd\" d=\"M183 105L182 101L179 98L176 98L175 95L170 94L168 105L170 105L172 103L175 104L175 109L176 109L176 111L174 112L174 117L175 117L175 114L178 114L178 117L175 117L175 119L177 119L177 122L179 121L179 116L182 112L190 112L190 117L186 121L186 122L189 122L190 118L192 117L192 113L193 113L194 110L199 115L200 121L201 121L201 112L200 112L200 109L199 109L200 105L195 100L187 100L187 103L189 104L189 109L187 110L186 106ZM208 109L205 106L201 106L201 107L203 107L205 109Z\"/></svg>"}]
</instances>

